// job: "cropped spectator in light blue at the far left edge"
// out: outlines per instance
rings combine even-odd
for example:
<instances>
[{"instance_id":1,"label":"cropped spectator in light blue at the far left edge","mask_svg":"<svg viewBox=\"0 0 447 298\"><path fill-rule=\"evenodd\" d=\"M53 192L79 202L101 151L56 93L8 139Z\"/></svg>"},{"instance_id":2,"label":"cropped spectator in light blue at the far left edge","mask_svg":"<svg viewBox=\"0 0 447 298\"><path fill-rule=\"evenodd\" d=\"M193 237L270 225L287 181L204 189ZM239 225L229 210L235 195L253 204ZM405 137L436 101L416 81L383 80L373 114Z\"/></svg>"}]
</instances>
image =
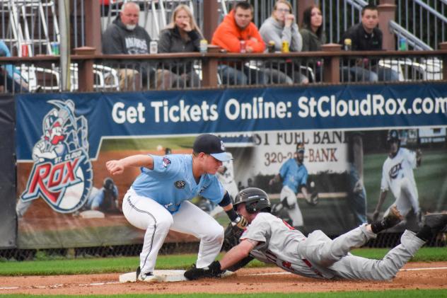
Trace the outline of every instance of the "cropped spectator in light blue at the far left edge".
<instances>
[{"instance_id":1,"label":"cropped spectator in light blue at the far left edge","mask_svg":"<svg viewBox=\"0 0 447 298\"><path fill-rule=\"evenodd\" d=\"M11 57L11 52L3 40L0 40L0 57ZM6 92L28 92L29 89L28 82L12 64L0 65L0 85L4 85Z\"/></svg>"}]
</instances>

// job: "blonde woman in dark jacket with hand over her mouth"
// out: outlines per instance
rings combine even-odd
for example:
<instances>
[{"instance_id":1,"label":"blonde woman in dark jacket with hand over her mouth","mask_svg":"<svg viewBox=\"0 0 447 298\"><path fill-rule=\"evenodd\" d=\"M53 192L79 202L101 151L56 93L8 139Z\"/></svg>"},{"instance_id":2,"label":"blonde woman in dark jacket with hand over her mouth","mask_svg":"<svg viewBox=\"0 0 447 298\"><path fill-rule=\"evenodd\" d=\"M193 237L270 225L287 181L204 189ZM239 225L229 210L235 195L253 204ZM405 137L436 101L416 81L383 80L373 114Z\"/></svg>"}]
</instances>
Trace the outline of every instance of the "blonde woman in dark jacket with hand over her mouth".
<instances>
[{"instance_id":1,"label":"blonde woman in dark jacket with hand over her mouth","mask_svg":"<svg viewBox=\"0 0 447 298\"><path fill-rule=\"evenodd\" d=\"M158 52L199 52L202 33L195 22L190 8L185 4L177 6L168 26L160 33ZM185 61L185 60L183 60ZM199 86L199 76L193 69L194 62L175 62L171 60L170 71L179 87Z\"/></svg>"}]
</instances>

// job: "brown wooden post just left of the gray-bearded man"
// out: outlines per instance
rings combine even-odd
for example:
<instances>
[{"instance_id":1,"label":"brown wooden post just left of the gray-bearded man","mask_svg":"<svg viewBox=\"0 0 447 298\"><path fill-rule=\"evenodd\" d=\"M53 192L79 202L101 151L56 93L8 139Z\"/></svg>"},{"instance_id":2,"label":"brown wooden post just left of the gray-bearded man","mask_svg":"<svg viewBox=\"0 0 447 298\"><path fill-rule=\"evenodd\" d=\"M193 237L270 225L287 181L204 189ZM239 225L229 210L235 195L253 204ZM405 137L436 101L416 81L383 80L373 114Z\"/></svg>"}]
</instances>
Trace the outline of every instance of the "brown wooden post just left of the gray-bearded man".
<instances>
[{"instance_id":1,"label":"brown wooden post just left of the gray-bearded man","mask_svg":"<svg viewBox=\"0 0 447 298\"><path fill-rule=\"evenodd\" d=\"M86 47L94 47L95 54L100 54L102 49L100 2L98 0L85 0L84 7L86 13Z\"/></svg>"}]
</instances>

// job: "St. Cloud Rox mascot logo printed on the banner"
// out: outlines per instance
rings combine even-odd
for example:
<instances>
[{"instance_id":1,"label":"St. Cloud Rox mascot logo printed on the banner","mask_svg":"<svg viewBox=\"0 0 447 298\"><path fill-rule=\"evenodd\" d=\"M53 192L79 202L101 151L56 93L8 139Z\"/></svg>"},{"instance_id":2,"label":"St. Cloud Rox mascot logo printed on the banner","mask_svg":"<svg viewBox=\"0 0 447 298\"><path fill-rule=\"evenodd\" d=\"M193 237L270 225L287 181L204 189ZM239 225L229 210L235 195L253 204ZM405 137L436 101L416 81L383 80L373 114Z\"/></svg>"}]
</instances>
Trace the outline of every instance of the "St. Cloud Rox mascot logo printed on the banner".
<instances>
[{"instance_id":1,"label":"St. Cloud Rox mascot logo printed on the banner","mask_svg":"<svg viewBox=\"0 0 447 298\"><path fill-rule=\"evenodd\" d=\"M33 169L21 200L42 197L54 211L74 212L85 204L92 188L87 120L76 116L71 100L47 103L54 108L42 120L42 137L34 144Z\"/></svg>"}]
</instances>

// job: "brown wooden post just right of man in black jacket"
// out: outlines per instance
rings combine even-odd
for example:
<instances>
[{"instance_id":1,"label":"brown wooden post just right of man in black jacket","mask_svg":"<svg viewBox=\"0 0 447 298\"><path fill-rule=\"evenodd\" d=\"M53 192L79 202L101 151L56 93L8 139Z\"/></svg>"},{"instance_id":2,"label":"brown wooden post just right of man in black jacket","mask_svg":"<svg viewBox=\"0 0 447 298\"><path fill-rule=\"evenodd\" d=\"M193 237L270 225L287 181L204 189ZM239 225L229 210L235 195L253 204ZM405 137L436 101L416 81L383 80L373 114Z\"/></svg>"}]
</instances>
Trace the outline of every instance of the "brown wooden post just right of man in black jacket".
<instances>
[{"instance_id":1,"label":"brown wooden post just right of man in black jacket","mask_svg":"<svg viewBox=\"0 0 447 298\"><path fill-rule=\"evenodd\" d=\"M378 8L378 28L383 33L383 50L396 50L395 36L390 30L390 21L395 21L395 0L381 0Z\"/></svg>"}]
</instances>

